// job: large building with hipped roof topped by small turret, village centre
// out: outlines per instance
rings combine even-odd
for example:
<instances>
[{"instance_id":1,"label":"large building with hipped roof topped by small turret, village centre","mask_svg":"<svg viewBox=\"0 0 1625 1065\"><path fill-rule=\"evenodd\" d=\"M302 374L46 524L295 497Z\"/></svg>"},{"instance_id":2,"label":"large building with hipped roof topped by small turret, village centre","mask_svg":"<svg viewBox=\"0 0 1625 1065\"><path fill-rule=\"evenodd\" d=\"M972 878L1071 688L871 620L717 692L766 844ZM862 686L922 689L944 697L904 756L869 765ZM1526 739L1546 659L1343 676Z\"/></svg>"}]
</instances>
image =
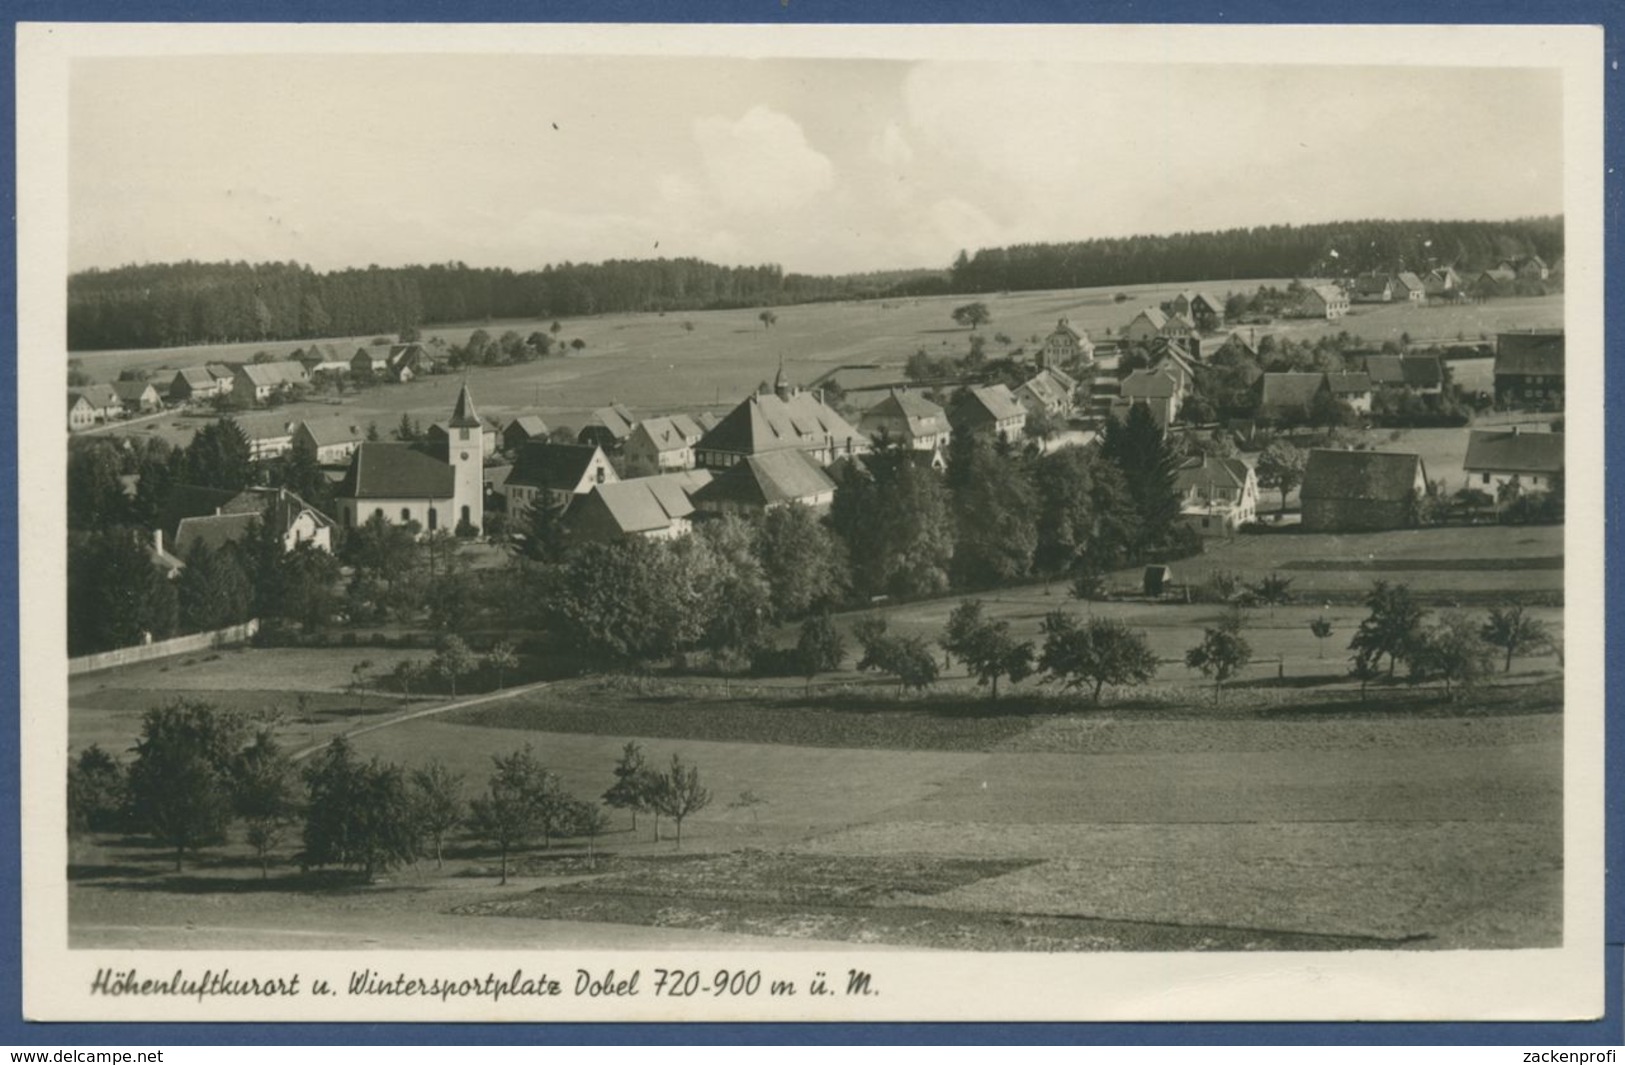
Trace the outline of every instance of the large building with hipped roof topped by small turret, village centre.
<instances>
[{"instance_id":1,"label":"large building with hipped roof topped by small turret, village centre","mask_svg":"<svg viewBox=\"0 0 1625 1065\"><path fill-rule=\"evenodd\" d=\"M694 446L694 459L725 470L749 455L803 450L819 465L869 450L869 437L811 392L790 389L783 376L772 390L757 390L728 411Z\"/></svg>"}]
</instances>

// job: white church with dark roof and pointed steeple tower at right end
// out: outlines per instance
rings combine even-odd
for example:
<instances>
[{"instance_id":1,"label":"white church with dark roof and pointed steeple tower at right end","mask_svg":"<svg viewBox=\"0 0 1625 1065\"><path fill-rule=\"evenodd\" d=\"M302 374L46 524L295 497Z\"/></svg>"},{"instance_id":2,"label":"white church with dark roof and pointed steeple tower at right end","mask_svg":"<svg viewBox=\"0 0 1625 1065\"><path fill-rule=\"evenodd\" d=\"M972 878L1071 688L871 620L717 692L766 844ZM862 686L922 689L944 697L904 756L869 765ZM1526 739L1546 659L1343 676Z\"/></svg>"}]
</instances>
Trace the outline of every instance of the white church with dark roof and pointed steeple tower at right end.
<instances>
[{"instance_id":1,"label":"white church with dark roof and pointed steeple tower at right end","mask_svg":"<svg viewBox=\"0 0 1625 1065\"><path fill-rule=\"evenodd\" d=\"M358 446L335 493L340 522L353 528L382 517L390 524L416 522L421 532L478 530L486 520L484 441L466 384L457 392L447 424L453 436L445 460L408 444Z\"/></svg>"}]
</instances>

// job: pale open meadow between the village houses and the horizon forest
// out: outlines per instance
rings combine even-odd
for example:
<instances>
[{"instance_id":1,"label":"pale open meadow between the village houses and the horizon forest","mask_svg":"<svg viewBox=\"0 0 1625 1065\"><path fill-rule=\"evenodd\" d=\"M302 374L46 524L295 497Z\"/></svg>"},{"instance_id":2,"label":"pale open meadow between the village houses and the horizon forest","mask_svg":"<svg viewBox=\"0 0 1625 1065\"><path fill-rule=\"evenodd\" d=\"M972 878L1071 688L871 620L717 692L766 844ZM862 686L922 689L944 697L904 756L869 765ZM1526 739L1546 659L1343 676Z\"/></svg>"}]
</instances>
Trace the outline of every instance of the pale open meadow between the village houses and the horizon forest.
<instances>
[{"instance_id":1,"label":"pale open meadow between the village houses and the horizon forest","mask_svg":"<svg viewBox=\"0 0 1625 1065\"><path fill-rule=\"evenodd\" d=\"M1268 283L1282 283L1272 280ZM1092 335L1120 330L1146 304L1168 299L1185 288L1209 288L1216 294L1256 288L1258 281L1217 281L1201 286L1154 285L990 294L982 299L993 311L988 337L1006 335L1030 353L1035 338L1055 328L1060 317L1087 328ZM1115 302L1124 291L1129 299ZM520 411L540 413L549 424L580 426L585 415L609 402L632 406L639 413L722 411L744 397L759 382L772 379L783 359L791 380L811 382L842 366L879 367L852 369L838 374L848 387L895 380L904 361L920 348L933 353L962 353L967 330L956 327L949 312L965 302L965 296L942 296L904 301L861 301L806 304L778 309L778 322L769 330L756 311L696 311L671 314L614 314L569 319L559 333L580 337L587 348L562 358L549 358L528 366L478 369L470 374L470 387L481 413L510 416ZM1292 337L1315 338L1350 332L1373 343L1412 337L1469 337L1495 333L1513 327L1560 325L1563 298L1490 301L1467 307L1358 307L1339 322L1305 322L1282 319L1266 327ZM692 324L692 330L684 328ZM434 327L426 337L445 337L462 343L474 328L500 335L514 328L528 335L549 322L489 322L457 327ZM372 337L333 338L338 351L349 354ZM247 361L255 351L284 354L310 341L275 341L247 345L203 345L195 348L161 348L143 351L75 353L98 380L112 380L120 369L143 367L154 372L205 361ZM990 343L998 353L1001 345ZM278 408L254 418L268 423L315 419L338 415L353 424L375 421L380 429L393 428L403 413L429 421L450 411L458 377L414 380L406 385L380 385L341 398L322 398ZM185 442L197 428L195 419L164 416L128 429L172 442Z\"/></svg>"}]
</instances>

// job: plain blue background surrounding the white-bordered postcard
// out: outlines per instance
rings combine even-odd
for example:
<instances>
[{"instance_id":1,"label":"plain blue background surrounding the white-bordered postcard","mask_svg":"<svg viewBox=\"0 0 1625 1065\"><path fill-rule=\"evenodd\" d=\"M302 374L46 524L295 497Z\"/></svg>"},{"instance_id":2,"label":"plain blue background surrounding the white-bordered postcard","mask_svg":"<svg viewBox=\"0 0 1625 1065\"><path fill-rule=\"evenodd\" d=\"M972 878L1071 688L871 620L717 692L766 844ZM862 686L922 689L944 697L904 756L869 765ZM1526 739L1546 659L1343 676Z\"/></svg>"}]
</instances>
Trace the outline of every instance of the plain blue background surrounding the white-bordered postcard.
<instances>
[{"instance_id":1,"label":"plain blue background surrounding the white-bordered postcard","mask_svg":"<svg viewBox=\"0 0 1625 1065\"><path fill-rule=\"evenodd\" d=\"M1362 0L1357 5L1310 5L1282 0L1097 0L1089 5L1043 0L569 0L566 3L515 3L514 0L13 0L6 5L3 49L6 76L0 85L0 180L5 182L5 247L0 249L0 335L6 382L16 393L16 138L15 138L15 23L18 21L668 21L668 23L1580 23L1606 26L1606 177L1604 218L1607 228L1607 319L1620 309L1622 283L1612 267L1620 263L1620 189L1614 169L1620 159L1620 73L1618 34L1625 29L1625 3L1544 0L1477 0L1476 3L1417 5L1399 0ZM1063 234L1064 236L1064 234ZM1609 330L1612 348L1612 330ZM1609 372L1607 406L1615 406L1625 387ZM1614 426L1607 428L1607 457L1625 457ZM1612 465L1612 463L1609 463ZM0 433L0 478L3 494L16 498L16 436ZM1618 546L1620 502L1625 488L1609 480L1606 514L1609 556ZM0 597L16 605L16 509L0 522ZM1609 598L1609 660L1617 657L1618 623L1625 621L1625 571L1571 559L1583 579L1606 574ZM0 616L0 676L16 678L16 626L20 611ZM1607 681L1609 717L1618 702L1622 675ZM13 706L20 699L11 688ZM1609 780L1615 782L1622 763L1618 728L1607 735ZM0 727L0 795L18 795L18 727L15 717ZM1615 865L1625 854L1625 798L1618 787L1607 797L1607 855ZM0 816L0 896L8 902L0 915L0 1044L54 1047L68 1045L184 1045L184 1044L850 1044L850 1042L1025 1042L1025 1044L1493 1044L1493 1045L1620 1045L1622 906L1620 885L1607 885L1607 1008L1594 1023L1505 1023L1505 1024L24 1024L21 984L21 901L20 842L16 816Z\"/></svg>"}]
</instances>

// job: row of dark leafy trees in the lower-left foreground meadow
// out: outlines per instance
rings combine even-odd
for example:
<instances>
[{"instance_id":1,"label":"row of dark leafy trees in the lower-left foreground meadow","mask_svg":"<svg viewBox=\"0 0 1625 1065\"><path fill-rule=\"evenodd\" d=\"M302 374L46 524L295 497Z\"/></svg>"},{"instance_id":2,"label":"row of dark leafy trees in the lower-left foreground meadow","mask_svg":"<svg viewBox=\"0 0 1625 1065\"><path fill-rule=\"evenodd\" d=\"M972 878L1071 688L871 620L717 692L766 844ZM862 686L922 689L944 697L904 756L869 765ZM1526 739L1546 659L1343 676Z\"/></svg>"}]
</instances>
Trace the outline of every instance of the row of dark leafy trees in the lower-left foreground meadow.
<instances>
[{"instance_id":1,"label":"row of dark leafy trees in the lower-left foreground meadow","mask_svg":"<svg viewBox=\"0 0 1625 1065\"><path fill-rule=\"evenodd\" d=\"M439 759L416 767L362 759L343 735L301 766L275 725L200 701L150 709L128 763L99 745L68 761L68 831L150 836L171 849L177 872L236 831L262 878L297 837L288 857L301 870L364 881L426 857L439 868L447 841L462 832L496 852L505 885L510 857L538 841L548 849L585 839L595 857L613 828L606 806L630 811L634 832L639 813L652 816L655 842L665 816L681 847L682 823L712 800L697 766L673 754L656 767L637 743L626 745L596 800L572 795L528 743L494 754L484 792L470 795L466 774Z\"/></svg>"}]
</instances>

